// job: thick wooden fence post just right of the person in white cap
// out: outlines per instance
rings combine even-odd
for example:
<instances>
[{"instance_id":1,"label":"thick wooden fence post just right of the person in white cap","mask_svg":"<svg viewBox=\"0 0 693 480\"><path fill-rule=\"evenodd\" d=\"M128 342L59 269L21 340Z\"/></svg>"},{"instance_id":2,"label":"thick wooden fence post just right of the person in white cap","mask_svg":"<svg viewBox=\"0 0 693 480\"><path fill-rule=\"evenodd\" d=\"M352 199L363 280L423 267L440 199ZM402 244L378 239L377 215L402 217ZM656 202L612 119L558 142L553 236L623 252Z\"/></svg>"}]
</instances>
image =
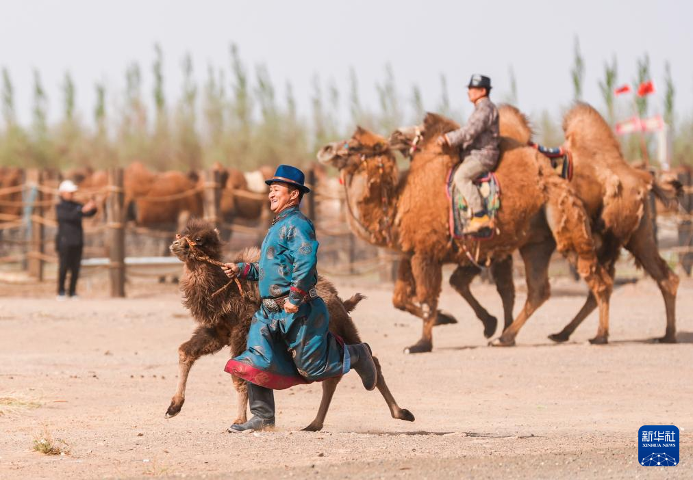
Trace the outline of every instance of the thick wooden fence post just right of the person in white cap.
<instances>
[{"instance_id":1,"label":"thick wooden fence post just right of the person in white cap","mask_svg":"<svg viewBox=\"0 0 693 480\"><path fill-rule=\"evenodd\" d=\"M123 169L108 170L107 226L110 230L109 270L111 296L125 297L125 192Z\"/></svg>"}]
</instances>

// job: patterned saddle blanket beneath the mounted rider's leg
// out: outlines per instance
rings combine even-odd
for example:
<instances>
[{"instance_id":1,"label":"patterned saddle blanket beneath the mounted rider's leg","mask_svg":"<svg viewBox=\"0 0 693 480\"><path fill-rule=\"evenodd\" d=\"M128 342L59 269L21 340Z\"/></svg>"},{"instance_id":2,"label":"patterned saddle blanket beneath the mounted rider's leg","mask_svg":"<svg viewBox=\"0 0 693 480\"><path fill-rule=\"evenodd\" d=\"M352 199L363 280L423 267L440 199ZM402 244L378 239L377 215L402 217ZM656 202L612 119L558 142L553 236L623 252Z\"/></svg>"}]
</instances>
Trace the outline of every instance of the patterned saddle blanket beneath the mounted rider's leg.
<instances>
[{"instance_id":1,"label":"patterned saddle blanket beneath the mounted rider's leg","mask_svg":"<svg viewBox=\"0 0 693 480\"><path fill-rule=\"evenodd\" d=\"M467 222L471 219L471 212L469 212L467 202L462 193L455 187L455 182L453 182L455 170L459 168L459 165L462 164L458 164L448 172L445 189L450 201L450 236L455 239L464 237L464 228L466 228ZM500 183L498 183L498 178L496 178L493 172L486 172L479 176L474 183L479 187L486 214L491 217L491 225L493 225L493 219L500 209ZM491 239L494 232L495 228L484 228L484 230L471 235L471 237L480 240Z\"/></svg>"}]
</instances>

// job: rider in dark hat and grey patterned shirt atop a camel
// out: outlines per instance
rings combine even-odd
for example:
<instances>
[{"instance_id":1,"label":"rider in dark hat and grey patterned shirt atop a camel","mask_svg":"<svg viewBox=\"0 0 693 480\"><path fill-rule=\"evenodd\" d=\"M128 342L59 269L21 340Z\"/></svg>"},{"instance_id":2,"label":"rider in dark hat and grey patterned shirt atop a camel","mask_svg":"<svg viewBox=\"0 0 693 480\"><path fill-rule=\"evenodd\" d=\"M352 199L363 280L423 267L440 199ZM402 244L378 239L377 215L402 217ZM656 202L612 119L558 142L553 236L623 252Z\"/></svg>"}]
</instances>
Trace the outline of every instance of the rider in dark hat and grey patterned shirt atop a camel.
<instances>
[{"instance_id":1,"label":"rider in dark hat and grey patterned shirt atop a camel","mask_svg":"<svg viewBox=\"0 0 693 480\"><path fill-rule=\"evenodd\" d=\"M455 172L453 181L473 214L464 230L464 233L470 234L490 225L489 215L473 181L482 173L495 169L499 147L498 109L489 99L491 79L484 75L472 75L467 88L469 101L474 104L473 113L464 127L441 135L438 142L440 145L462 147L462 165Z\"/></svg>"}]
</instances>

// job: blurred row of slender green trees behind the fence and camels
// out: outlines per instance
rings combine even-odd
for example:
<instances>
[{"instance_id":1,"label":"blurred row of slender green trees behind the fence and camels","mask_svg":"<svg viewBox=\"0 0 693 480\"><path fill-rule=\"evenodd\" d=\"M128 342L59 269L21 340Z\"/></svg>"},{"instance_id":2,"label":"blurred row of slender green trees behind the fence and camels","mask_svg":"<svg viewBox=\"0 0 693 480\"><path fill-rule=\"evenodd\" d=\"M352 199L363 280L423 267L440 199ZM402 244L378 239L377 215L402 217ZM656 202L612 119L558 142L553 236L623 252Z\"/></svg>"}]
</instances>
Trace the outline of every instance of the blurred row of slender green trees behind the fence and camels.
<instances>
[{"instance_id":1,"label":"blurred row of slender green trees behind the fence and camels","mask_svg":"<svg viewBox=\"0 0 693 480\"><path fill-rule=\"evenodd\" d=\"M154 79L151 102L146 102L142 88L143 73L139 64L131 64L125 72L125 91L116 104L107 95L102 82L94 86L96 104L91 122L82 118L76 107L76 86L69 73L62 82L62 118L49 124L46 91L40 73L34 72L31 122L22 125L15 110L15 89L10 72L2 71L2 116L0 127L0 165L52 166L69 168L81 165L107 167L126 165L141 160L155 169L198 169L219 161L242 169L258 165L295 163L305 165L315 158L315 151L325 142L349 136L356 124L389 132L402 124L413 124L423 118L421 90L412 86L407 101L397 89L394 73L388 65L385 77L376 85L378 109L362 104L358 78L353 68L349 91L344 102L335 82L326 84L313 77L310 115L300 116L292 85L282 92L270 79L267 67L259 65L252 71L240 58L238 48L229 50L229 68L209 66L207 80L198 86L193 76L193 61L186 55L182 61L182 91L170 104L164 94L164 55L155 45L151 73ZM632 84L650 78L649 57L638 59L638 75ZM674 133L674 164L691 161L693 152L693 119L677 122L674 113L675 90L669 64L666 66L664 116ZM230 75L230 78L227 78ZM580 100L584 88L584 59L575 43L571 77L574 98ZM510 89L507 102L517 104L515 75L509 72ZM618 86L616 60L604 66L599 82L606 118L613 124L622 113L617 109L613 91ZM441 98L435 110L456 120L459 111L450 106L446 77L441 75ZM283 99L279 99L283 95ZM349 115L342 116L340 105L349 106ZM148 104L152 107L148 108ZM640 116L649 113L649 99L637 99ZM347 118L347 121L342 121ZM549 111L535 118L540 141L556 145L562 141L559 122ZM639 158L636 139L626 138L624 150L629 158ZM649 146L651 148L651 146Z\"/></svg>"}]
</instances>

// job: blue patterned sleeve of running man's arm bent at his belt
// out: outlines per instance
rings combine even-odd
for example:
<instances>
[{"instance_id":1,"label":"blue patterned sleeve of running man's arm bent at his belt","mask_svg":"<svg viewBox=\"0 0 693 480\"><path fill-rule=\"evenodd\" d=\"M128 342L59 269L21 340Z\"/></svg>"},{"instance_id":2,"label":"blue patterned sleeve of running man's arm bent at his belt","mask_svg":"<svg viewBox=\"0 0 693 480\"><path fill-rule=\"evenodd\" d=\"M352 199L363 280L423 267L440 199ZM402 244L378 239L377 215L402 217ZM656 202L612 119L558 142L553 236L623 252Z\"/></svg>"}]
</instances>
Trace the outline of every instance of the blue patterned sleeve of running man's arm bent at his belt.
<instances>
[{"instance_id":1,"label":"blue patterned sleeve of running man's arm bent at his belt","mask_svg":"<svg viewBox=\"0 0 693 480\"><path fill-rule=\"evenodd\" d=\"M286 236L287 247L294 259L289 302L294 305L308 295L308 290L317 283L317 247L315 228L308 219L295 221L290 227L292 234Z\"/></svg>"}]
</instances>

